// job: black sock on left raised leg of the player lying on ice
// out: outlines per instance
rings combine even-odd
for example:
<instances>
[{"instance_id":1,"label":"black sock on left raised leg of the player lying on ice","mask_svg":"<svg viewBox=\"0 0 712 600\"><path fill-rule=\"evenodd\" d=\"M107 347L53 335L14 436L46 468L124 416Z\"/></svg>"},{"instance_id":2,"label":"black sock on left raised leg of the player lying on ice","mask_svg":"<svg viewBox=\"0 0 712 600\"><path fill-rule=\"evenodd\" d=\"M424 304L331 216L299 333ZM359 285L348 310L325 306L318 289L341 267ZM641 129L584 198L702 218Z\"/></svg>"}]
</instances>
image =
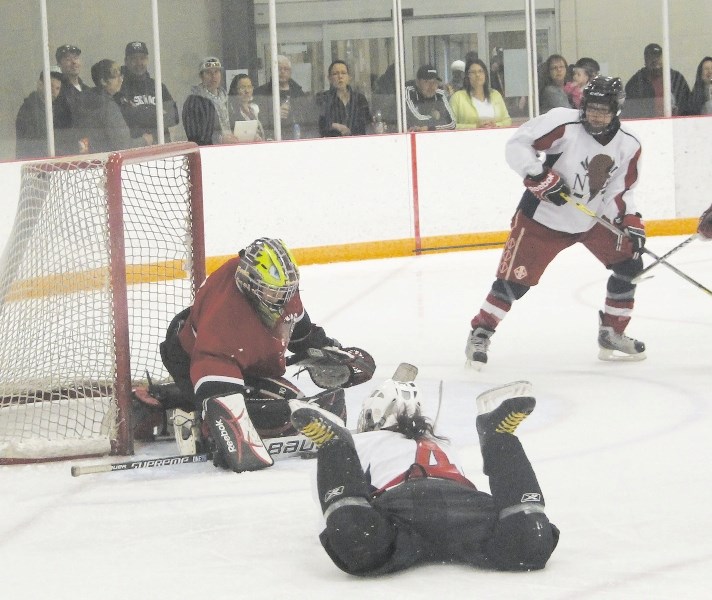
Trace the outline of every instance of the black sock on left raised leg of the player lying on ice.
<instances>
[{"instance_id":1,"label":"black sock on left raised leg of the player lying on ice","mask_svg":"<svg viewBox=\"0 0 712 600\"><path fill-rule=\"evenodd\" d=\"M366 476L351 440L335 440L319 450L317 489L323 512L344 498L368 499Z\"/></svg>"}]
</instances>

